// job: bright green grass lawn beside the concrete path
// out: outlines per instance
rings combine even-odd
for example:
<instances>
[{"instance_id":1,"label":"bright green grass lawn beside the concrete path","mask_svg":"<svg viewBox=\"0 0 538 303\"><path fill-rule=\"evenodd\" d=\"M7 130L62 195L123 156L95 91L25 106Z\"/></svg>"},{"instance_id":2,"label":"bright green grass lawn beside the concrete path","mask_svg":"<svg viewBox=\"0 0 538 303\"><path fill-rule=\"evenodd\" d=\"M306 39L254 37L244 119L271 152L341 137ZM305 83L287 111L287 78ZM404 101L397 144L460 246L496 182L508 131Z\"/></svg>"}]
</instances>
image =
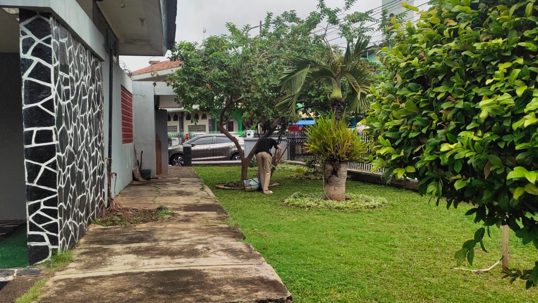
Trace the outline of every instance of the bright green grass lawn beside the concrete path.
<instances>
[{"instance_id":1,"label":"bright green grass lawn beside the concrete path","mask_svg":"<svg viewBox=\"0 0 538 303\"><path fill-rule=\"evenodd\" d=\"M419 194L348 181L353 193L382 196L381 209L341 210L287 207L294 192L322 195L321 181L285 179L277 172L273 195L216 189L239 178L239 167L195 167L226 212L282 278L296 302L538 302L538 289L491 273L452 270L454 252L480 226L464 216L468 207L435 206ZM500 258L500 229L491 229L476 249L472 269ZM538 252L511 234L511 267L532 268Z\"/></svg>"}]
</instances>

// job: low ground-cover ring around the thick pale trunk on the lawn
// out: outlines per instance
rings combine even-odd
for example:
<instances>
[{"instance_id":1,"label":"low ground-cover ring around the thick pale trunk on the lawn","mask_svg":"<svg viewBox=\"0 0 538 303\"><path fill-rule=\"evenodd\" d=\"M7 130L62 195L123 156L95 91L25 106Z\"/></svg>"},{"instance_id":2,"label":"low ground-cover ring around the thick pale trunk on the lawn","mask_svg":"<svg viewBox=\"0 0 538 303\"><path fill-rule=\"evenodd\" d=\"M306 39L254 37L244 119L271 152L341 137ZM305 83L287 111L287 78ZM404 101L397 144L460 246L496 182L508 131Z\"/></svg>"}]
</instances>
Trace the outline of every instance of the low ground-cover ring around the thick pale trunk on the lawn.
<instances>
[{"instance_id":1,"label":"low ground-cover ring around the thick pale trunk on the lawn","mask_svg":"<svg viewBox=\"0 0 538 303\"><path fill-rule=\"evenodd\" d=\"M320 195L305 193L294 193L284 200L284 204L294 207L348 210L380 208L387 203L383 197L351 193L346 194L345 201L325 200Z\"/></svg>"}]
</instances>

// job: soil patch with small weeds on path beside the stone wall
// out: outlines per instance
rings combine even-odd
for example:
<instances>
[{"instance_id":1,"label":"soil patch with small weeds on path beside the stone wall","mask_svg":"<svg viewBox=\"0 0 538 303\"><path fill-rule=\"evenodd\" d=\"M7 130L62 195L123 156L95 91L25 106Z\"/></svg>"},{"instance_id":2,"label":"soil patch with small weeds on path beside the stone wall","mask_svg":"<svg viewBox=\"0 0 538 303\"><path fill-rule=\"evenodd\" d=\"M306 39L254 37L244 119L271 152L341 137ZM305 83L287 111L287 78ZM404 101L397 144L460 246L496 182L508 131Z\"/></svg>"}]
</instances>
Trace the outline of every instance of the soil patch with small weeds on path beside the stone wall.
<instances>
[{"instance_id":1,"label":"soil patch with small weeds on path beside the stone wall","mask_svg":"<svg viewBox=\"0 0 538 303\"><path fill-rule=\"evenodd\" d=\"M93 223L101 226L131 225L155 222L173 215L171 210L162 206L154 209L130 208L98 217Z\"/></svg>"}]
</instances>

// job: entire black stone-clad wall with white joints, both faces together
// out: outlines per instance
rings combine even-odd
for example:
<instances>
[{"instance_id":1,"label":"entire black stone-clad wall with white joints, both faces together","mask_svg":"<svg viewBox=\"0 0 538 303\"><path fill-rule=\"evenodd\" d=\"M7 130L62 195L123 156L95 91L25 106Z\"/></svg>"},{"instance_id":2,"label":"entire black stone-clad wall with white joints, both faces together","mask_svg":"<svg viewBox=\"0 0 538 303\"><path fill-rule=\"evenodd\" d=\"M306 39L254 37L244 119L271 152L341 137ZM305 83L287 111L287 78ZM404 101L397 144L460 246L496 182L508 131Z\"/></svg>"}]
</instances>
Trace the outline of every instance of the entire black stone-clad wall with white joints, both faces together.
<instances>
[{"instance_id":1,"label":"entire black stone-clad wall with white joints, both faces together","mask_svg":"<svg viewBox=\"0 0 538 303\"><path fill-rule=\"evenodd\" d=\"M73 246L105 199L100 61L49 13L20 10L29 261Z\"/></svg>"}]
</instances>

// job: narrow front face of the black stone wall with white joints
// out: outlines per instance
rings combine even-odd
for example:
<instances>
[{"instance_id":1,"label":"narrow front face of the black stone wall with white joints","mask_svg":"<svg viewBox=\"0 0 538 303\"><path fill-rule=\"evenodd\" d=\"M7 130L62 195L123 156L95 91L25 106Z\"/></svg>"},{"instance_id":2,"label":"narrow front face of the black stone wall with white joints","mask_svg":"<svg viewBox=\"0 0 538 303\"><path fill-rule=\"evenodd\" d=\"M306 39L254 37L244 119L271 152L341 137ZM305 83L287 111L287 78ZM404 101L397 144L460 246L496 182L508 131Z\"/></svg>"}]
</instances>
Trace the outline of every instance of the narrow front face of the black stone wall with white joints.
<instances>
[{"instance_id":1,"label":"narrow front face of the black stone wall with white joints","mask_svg":"<svg viewBox=\"0 0 538 303\"><path fill-rule=\"evenodd\" d=\"M59 248L51 16L20 10L19 18L28 257L36 263Z\"/></svg>"}]
</instances>

